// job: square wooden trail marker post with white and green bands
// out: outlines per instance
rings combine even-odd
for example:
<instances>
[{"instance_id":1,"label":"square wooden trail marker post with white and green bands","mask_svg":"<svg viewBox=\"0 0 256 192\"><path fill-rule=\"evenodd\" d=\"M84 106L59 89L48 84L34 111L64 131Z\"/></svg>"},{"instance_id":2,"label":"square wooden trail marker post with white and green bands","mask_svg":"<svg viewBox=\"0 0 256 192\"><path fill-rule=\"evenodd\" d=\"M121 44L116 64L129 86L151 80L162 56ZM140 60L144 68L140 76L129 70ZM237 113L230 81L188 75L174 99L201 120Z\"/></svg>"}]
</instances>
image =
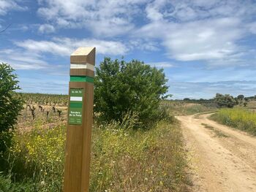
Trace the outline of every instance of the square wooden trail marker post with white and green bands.
<instances>
[{"instance_id":1,"label":"square wooden trail marker post with white and green bands","mask_svg":"<svg viewBox=\"0 0 256 192\"><path fill-rule=\"evenodd\" d=\"M80 47L70 55L64 192L89 191L94 65L95 47Z\"/></svg>"}]
</instances>

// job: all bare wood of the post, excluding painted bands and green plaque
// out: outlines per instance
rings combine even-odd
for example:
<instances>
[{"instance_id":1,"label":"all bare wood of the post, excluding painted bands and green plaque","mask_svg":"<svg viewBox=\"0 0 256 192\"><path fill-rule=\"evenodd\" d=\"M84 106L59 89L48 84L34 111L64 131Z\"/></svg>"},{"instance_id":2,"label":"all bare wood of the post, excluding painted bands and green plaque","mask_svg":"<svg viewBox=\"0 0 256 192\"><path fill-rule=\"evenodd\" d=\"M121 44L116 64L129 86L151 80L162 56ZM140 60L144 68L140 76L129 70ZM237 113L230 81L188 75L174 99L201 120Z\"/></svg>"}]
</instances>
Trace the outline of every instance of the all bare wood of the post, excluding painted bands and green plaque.
<instances>
[{"instance_id":1,"label":"all bare wood of the post, excluding painted bands and green plaque","mask_svg":"<svg viewBox=\"0 0 256 192\"><path fill-rule=\"evenodd\" d=\"M78 48L70 55L70 64L95 65L95 51L95 47ZM89 69L70 69L70 75L70 81L75 80L75 82L69 82L69 96L70 88L84 89L83 118L82 125L67 124L63 190L64 192L89 192L94 104L94 83L91 82L93 82L94 72ZM88 82L77 82L75 78L72 78L80 76L85 76ZM69 114L69 110L67 114Z\"/></svg>"}]
</instances>

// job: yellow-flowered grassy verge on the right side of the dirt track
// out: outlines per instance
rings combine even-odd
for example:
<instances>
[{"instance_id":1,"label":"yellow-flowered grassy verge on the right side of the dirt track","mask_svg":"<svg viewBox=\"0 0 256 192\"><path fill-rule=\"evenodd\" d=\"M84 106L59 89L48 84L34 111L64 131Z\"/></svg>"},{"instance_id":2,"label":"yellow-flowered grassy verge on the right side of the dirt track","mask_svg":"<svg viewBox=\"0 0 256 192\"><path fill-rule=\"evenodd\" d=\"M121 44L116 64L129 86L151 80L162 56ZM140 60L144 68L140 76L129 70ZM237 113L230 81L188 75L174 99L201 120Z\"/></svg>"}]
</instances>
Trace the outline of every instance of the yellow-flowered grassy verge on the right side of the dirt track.
<instances>
[{"instance_id":1,"label":"yellow-flowered grassy verge on the right side of the dirt track","mask_svg":"<svg viewBox=\"0 0 256 192\"><path fill-rule=\"evenodd\" d=\"M219 112L211 115L210 118L218 123L222 123L233 128L238 128L256 136L255 112L241 108L221 109Z\"/></svg>"}]
</instances>

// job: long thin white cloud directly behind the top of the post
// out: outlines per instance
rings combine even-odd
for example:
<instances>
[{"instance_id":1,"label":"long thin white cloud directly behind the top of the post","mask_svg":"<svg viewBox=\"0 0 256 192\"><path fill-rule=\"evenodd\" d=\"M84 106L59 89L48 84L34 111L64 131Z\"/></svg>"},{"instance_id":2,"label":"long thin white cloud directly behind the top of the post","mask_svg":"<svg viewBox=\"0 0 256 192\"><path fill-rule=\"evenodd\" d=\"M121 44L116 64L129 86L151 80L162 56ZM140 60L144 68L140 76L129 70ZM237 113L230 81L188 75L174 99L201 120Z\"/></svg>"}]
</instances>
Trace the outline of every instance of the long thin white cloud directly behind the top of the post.
<instances>
[{"instance_id":1,"label":"long thin white cloud directly behind the top of the post","mask_svg":"<svg viewBox=\"0 0 256 192\"><path fill-rule=\"evenodd\" d=\"M128 48L121 42L99 39L69 39L54 38L52 41L35 41L32 39L23 42L14 42L18 47L34 53L52 53L69 56L78 47L96 47L97 53L109 55L124 55Z\"/></svg>"}]
</instances>

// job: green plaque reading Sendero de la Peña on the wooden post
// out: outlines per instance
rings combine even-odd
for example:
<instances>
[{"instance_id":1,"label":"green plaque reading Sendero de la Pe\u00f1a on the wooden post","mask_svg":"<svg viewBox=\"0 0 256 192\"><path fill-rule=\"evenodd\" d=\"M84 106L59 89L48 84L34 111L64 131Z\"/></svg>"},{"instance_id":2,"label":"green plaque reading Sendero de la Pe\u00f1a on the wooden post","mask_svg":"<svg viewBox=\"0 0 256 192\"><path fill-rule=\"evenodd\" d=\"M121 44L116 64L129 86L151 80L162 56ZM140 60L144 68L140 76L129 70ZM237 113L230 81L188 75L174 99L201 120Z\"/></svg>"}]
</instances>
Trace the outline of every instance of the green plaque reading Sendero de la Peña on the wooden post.
<instances>
[{"instance_id":1,"label":"green plaque reading Sendero de la Pe\u00f1a on the wooden post","mask_svg":"<svg viewBox=\"0 0 256 192\"><path fill-rule=\"evenodd\" d=\"M69 125L82 125L83 88L70 88Z\"/></svg>"}]
</instances>

